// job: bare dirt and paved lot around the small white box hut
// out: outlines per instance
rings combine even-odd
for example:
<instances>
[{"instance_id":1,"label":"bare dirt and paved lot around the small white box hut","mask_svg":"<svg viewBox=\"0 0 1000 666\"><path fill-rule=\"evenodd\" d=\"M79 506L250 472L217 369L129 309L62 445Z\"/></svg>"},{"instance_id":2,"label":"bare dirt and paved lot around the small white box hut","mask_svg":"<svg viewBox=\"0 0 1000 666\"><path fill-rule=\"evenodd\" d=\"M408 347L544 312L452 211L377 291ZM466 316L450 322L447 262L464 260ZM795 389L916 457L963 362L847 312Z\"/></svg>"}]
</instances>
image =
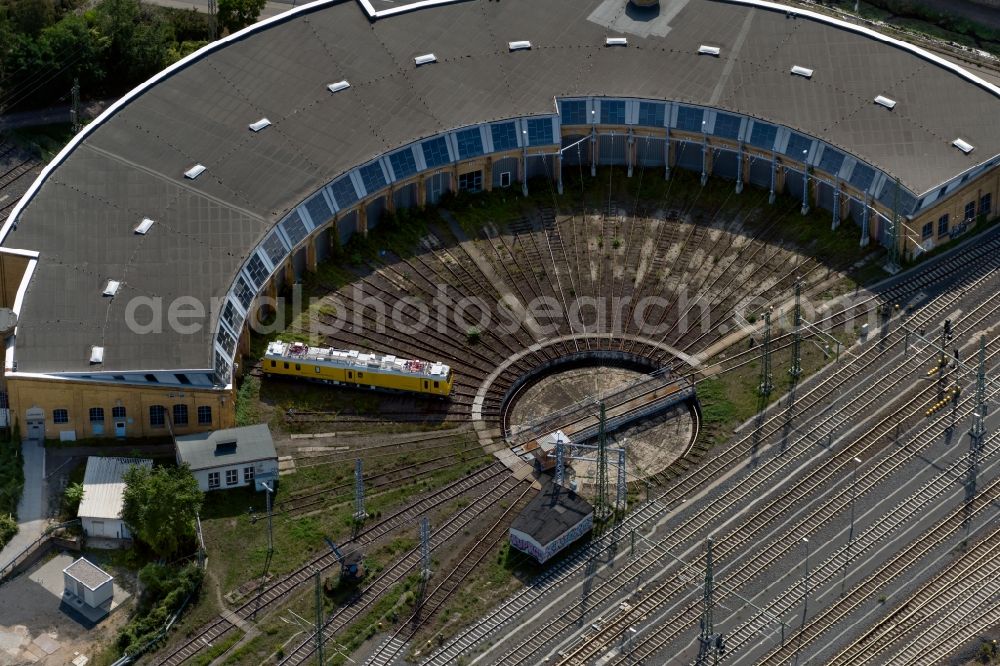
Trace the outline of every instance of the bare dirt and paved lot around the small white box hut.
<instances>
[{"instance_id":1,"label":"bare dirt and paved lot around the small white box hut","mask_svg":"<svg viewBox=\"0 0 1000 666\"><path fill-rule=\"evenodd\" d=\"M128 620L128 608L119 607L91 626L61 606L62 570L74 559L56 555L0 587L0 666L86 666ZM115 593L119 600L127 594Z\"/></svg>"}]
</instances>

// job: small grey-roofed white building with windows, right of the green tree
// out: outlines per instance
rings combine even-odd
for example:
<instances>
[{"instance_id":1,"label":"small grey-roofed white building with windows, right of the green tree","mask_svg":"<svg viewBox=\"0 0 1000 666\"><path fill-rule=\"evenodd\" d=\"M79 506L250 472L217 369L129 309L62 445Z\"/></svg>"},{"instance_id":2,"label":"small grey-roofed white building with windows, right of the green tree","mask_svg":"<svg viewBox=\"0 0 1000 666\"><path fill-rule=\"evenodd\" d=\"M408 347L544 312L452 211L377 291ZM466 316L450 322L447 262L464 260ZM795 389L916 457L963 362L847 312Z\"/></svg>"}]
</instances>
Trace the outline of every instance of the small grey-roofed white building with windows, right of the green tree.
<instances>
[{"instance_id":1,"label":"small grey-roofed white building with windows, right of the green tree","mask_svg":"<svg viewBox=\"0 0 1000 666\"><path fill-rule=\"evenodd\" d=\"M177 464L187 463L206 492L250 484L262 490L262 483L278 478L278 454L265 424L184 435L174 442Z\"/></svg>"}]
</instances>

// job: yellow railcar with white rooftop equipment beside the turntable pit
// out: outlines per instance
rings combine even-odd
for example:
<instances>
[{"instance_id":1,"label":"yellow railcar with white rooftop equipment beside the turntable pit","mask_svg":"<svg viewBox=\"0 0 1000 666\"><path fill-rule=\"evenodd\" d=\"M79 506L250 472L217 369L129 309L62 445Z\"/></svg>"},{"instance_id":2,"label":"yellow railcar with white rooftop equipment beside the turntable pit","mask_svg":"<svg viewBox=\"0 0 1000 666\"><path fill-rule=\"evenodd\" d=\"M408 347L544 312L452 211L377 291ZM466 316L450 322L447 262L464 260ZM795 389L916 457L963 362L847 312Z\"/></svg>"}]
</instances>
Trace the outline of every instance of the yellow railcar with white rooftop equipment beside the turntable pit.
<instances>
[{"instance_id":1,"label":"yellow railcar with white rooftop equipment beside the turntable pit","mask_svg":"<svg viewBox=\"0 0 1000 666\"><path fill-rule=\"evenodd\" d=\"M453 381L451 368L444 363L401 359L354 349L309 347L301 342L268 344L261 365L268 375L442 397L451 394Z\"/></svg>"}]
</instances>

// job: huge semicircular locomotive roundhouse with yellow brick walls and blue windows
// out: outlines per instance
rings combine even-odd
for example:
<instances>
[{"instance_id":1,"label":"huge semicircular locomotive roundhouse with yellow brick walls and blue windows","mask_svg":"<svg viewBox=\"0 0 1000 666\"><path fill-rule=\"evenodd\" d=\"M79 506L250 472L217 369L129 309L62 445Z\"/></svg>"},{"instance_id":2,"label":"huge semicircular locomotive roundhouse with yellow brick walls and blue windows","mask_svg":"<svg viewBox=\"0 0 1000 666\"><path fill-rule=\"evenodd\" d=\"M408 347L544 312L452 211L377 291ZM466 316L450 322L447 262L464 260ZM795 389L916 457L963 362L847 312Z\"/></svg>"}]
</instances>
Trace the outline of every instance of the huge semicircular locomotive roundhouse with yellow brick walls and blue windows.
<instances>
[{"instance_id":1,"label":"huge semicircular locomotive roundhouse with yellow brick walls and blue windows","mask_svg":"<svg viewBox=\"0 0 1000 666\"><path fill-rule=\"evenodd\" d=\"M19 202L10 418L49 437L229 426L248 316L331 239L446 191L561 187L566 165L694 169L926 250L993 214L998 94L759 0L316 2L134 90Z\"/></svg>"}]
</instances>

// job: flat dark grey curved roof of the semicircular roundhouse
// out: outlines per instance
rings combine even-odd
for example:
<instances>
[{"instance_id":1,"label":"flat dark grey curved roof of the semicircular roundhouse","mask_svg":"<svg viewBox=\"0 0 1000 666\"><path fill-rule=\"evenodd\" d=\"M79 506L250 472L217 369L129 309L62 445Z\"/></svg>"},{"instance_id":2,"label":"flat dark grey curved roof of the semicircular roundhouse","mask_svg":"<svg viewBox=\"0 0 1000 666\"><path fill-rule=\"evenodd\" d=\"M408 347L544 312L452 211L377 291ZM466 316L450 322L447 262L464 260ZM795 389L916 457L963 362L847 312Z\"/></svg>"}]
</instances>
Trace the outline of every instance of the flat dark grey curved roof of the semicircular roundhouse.
<instances>
[{"instance_id":1,"label":"flat dark grey curved roof of the semicircular roundhouse","mask_svg":"<svg viewBox=\"0 0 1000 666\"><path fill-rule=\"evenodd\" d=\"M1000 153L997 97L927 58L783 11L661 4L648 21L625 0L469 0L372 20L358 2L335 1L191 59L91 128L12 217L3 245L40 253L19 312L18 372L214 367L215 316L195 333L139 335L129 300L209 304L265 233L337 175L446 130L555 113L556 97L755 116L917 194ZM606 47L617 34L628 46ZM515 40L532 48L509 50ZM720 57L697 55L701 44ZM430 52L437 63L414 65ZM792 65L813 77L792 76ZM349 91L331 94L340 80ZM248 131L262 117L271 126ZM975 151L954 148L958 137ZM195 164L206 171L185 179ZM134 233L147 216L151 230ZM101 295L109 279L123 281L114 298ZM104 347L98 366L92 346Z\"/></svg>"}]
</instances>

